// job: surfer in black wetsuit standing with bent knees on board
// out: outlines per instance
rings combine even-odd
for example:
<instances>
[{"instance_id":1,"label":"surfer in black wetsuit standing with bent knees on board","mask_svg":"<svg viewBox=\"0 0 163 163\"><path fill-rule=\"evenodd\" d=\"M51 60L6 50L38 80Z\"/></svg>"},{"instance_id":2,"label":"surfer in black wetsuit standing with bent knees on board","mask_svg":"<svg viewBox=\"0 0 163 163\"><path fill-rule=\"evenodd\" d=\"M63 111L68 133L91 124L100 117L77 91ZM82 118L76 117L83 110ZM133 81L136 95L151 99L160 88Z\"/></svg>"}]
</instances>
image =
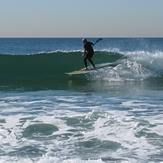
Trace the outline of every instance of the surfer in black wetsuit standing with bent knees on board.
<instances>
[{"instance_id":1,"label":"surfer in black wetsuit standing with bent knees on board","mask_svg":"<svg viewBox=\"0 0 163 163\"><path fill-rule=\"evenodd\" d=\"M85 70L88 70L87 59L92 64L92 68L95 69L95 65L91 59L94 54L94 50L93 50L94 44L92 42L88 42L87 39L85 39L85 38L82 39L82 42L84 44L84 53L83 53L82 57L83 57L84 65L85 65Z\"/></svg>"}]
</instances>

